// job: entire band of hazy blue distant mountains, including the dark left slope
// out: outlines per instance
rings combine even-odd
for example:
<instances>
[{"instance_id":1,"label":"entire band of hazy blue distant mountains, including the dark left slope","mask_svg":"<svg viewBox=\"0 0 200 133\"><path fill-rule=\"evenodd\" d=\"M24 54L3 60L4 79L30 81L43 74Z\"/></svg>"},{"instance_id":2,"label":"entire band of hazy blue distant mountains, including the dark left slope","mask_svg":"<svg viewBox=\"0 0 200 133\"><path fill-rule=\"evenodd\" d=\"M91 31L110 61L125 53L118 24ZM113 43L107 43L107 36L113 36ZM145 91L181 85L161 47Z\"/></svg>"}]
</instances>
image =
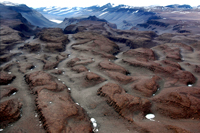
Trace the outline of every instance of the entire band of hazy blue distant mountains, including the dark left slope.
<instances>
[{"instance_id":1,"label":"entire band of hazy blue distant mountains, including the dark left slope","mask_svg":"<svg viewBox=\"0 0 200 133\"><path fill-rule=\"evenodd\" d=\"M64 29L70 24L76 24L84 19L92 19L92 21L102 20L109 22L110 25L114 25L114 27L116 26L116 28L122 30L155 30L157 27L154 25L161 27L168 25L168 19L176 20L177 16L182 16L181 19L184 20L188 15L191 18L192 16L196 16L197 14L195 13L190 15L190 12L200 12L200 6L191 7L190 5L175 4L168 6L133 7L128 5L113 6L108 3L104 6L72 8L53 6L33 9L24 4L3 2L0 3L0 11L2 12L1 17L3 15L2 18L7 18L15 12L18 14L18 18L21 15L21 22L27 21L27 23L38 27L59 27ZM177 15L177 13L179 14ZM93 20L94 18L95 20ZM192 19L195 18L193 17ZM60 24L52 21L60 21ZM157 30L155 31L157 32Z\"/></svg>"}]
</instances>

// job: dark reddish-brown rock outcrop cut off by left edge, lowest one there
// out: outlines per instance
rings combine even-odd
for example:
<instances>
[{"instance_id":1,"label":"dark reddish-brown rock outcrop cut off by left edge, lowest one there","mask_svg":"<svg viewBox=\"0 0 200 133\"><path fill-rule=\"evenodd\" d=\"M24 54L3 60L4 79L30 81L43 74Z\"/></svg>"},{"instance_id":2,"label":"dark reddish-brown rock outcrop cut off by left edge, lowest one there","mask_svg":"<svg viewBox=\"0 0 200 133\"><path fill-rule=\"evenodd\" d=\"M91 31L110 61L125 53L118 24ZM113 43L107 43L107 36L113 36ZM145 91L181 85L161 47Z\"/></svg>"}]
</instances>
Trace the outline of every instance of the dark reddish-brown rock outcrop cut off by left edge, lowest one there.
<instances>
[{"instance_id":1,"label":"dark reddish-brown rock outcrop cut off by left edge, lowest one there","mask_svg":"<svg viewBox=\"0 0 200 133\"><path fill-rule=\"evenodd\" d=\"M20 118L22 104L17 99L10 99L0 103L0 128Z\"/></svg>"}]
</instances>

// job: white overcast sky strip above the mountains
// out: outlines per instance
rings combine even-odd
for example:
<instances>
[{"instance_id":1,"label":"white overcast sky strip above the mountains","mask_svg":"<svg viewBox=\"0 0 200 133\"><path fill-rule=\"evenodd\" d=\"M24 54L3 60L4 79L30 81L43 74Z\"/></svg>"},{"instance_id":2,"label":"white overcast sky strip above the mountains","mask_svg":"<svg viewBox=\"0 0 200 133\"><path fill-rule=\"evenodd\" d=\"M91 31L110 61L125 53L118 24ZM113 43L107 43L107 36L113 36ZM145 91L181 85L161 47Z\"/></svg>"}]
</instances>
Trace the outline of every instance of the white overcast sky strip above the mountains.
<instances>
[{"instance_id":1,"label":"white overcast sky strip above the mountains","mask_svg":"<svg viewBox=\"0 0 200 133\"><path fill-rule=\"evenodd\" d=\"M5 0L0 0L3 2ZM191 6L200 5L200 0L6 0L18 4L26 4L29 7L88 7L93 5L124 4L129 6L151 6L160 5L166 6L171 4L189 4Z\"/></svg>"}]
</instances>

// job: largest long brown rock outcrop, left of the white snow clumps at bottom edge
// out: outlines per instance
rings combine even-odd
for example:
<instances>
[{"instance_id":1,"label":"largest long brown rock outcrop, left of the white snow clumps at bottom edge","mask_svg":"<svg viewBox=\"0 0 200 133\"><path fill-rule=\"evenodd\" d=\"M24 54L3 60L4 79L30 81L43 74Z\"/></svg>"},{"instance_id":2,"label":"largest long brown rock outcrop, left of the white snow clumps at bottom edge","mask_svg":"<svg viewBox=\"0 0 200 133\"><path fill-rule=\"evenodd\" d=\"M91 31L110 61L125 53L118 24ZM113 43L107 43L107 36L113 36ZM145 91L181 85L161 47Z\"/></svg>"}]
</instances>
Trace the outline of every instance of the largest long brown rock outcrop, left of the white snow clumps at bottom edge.
<instances>
[{"instance_id":1,"label":"largest long brown rock outcrop, left of the white snow clumps at bottom edge","mask_svg":"<svg viewBox=\"0 0 200 133\"><path fill-rule=\"evenodd\" d=\"M25 80L31 90L37 91L36 106L47 132L92 132L89 117L73 101L66 85L43 71L28 74Z\"/></svg>"}]
</instances>

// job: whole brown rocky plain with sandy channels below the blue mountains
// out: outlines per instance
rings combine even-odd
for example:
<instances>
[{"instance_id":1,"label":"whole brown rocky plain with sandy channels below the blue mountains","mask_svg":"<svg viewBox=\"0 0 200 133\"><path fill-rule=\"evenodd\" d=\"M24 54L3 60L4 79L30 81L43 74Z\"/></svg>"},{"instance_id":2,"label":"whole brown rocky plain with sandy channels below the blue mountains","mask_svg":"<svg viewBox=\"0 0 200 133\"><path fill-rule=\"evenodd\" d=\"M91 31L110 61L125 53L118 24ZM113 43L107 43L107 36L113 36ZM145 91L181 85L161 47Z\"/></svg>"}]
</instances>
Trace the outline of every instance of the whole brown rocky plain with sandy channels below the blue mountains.
<instances>
[{"instance_id":1,"label":"whole brown rocky plain with sandy channels below the blue mountains","mask_svg":"<svg viewBox=\"0 0 200 133\"><path fill-rule=\"evenodd\" d=\"M2 132L200 132L199 35L104 22L81 31L44 29L4 44Z\"/></svg>"}]
</instances>

